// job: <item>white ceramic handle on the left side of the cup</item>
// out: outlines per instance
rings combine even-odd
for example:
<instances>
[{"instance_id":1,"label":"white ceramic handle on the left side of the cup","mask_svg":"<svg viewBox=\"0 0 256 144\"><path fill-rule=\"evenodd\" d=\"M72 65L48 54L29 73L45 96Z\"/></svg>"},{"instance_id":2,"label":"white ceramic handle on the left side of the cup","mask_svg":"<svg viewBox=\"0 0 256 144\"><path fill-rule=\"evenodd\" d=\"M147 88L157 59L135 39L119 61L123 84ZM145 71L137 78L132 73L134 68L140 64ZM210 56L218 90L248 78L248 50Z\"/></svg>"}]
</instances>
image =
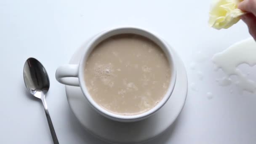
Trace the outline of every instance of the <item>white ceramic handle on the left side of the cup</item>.
<instances>
[{"instance_id":1,"label":"white ceramic handle on the left side of the cup","mask_svg":"<svg viewBox=\"0 0 256 144\"><path fill-rule=\"evenodd\" d=\"M80 86L78 80L78 64L60 66L55 73L56 80L64 85Z\"/></svg>"}]
</instances>

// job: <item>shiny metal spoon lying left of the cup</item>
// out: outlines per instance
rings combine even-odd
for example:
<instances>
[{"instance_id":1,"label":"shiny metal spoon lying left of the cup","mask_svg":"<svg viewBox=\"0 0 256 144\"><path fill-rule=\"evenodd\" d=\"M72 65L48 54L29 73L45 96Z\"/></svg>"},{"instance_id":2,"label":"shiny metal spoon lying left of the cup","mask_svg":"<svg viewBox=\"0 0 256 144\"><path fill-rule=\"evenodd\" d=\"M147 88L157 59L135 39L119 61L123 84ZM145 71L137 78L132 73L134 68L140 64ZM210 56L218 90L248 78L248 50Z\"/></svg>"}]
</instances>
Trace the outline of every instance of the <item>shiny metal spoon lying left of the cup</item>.
<instances>
[{"instance_id":1,"label":"shiny metal spoon lying left of the cup","mask_svg":"<svg viewBox=\"0 0 256 144\"><path fill-rule=\"evenodd\" d=\"M47 105L45 102L45 94L48 92L50 88L50 81L45 68L39 61L37 61L37 59L29 58L24 64L23 77L29 93L41 99L43 103L43 107L45 109L45 115L47 117L48 125L50 127L53 143L59 144L59 141L54 131L53 123L51 122L51 117L49 115Z\"/></svg>"}]
</instances>

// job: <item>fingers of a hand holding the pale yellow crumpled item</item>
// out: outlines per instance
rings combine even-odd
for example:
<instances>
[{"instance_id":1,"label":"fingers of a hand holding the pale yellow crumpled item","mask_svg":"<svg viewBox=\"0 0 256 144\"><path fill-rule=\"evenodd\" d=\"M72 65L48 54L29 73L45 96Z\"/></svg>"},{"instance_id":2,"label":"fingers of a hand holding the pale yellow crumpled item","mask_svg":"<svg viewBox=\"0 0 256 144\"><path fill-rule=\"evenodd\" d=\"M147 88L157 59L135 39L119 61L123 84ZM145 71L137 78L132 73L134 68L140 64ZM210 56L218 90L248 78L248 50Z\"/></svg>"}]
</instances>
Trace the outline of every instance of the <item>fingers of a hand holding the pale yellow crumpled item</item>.
<instances>
[{"instance_id":1,"label":"fingers of a hand holding the pale yellow crumpled item","mask_svg":"<svg viewBox=\"0 0 256 144\"><path fill-rule=\"evenodd\" d=\"M243 0L238 8L248 12L241 16L241 19L247 24L249 33L256 40L256 0Z\"/></svg>"}]
</instances>

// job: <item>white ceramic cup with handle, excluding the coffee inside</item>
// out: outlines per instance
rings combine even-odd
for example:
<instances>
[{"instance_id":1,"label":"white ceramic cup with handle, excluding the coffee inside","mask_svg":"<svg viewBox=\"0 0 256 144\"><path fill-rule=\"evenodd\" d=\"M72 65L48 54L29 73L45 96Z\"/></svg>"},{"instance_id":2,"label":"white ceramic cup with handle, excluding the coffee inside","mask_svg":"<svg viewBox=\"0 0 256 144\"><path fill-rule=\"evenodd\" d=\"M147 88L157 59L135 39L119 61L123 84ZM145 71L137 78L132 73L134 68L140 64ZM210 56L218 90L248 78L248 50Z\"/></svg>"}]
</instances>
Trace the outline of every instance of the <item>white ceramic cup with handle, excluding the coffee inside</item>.
<instances>
[{"instance_id":1,"label":"white ceramic cup with handle, excluding the coffee inside","mask_svg":"<svg viewBox=\"0 0 256 144\"><path fill-rule=\"evenodd\" d=\"M84 70L85 70L86 60L96 45L98 45L101 41L113 35L128 34L128 33L147 37L162 48L166 57L168 58L168 61L171 67L171 81L170 81L168 91L165 93L165 96L154 108L138 115L117 115L115 113L109 112L108 110L104 109L92 99L90 93L88 92L88 89L85 86L86 81L84 78L84 73L85 73ZM166 44L160 37L157 37L155 34L147 30L136 28L136 27L119 27L119 28L104 31L99 35L97 35L96 37L93 37L93 39L89 41L87 45L85 45L85 53L83 53L80 63L67 64L59 67L56 70L56 80L58 80L60 83L65 85L80 86L83 92L83 95L88 100L90 105L94 109L96 109L96 111L99 112L101 115L109 119L120 121L120 122L134 122L134 121L145 119L150 115L154 114L155 112L157 112L157 110L163 107L166 101L168 101L168 99L170 98L176 82L176 67L173 61L174 60L173 60L170 46ZM77 77L78 80L70 77Z\"/></svg>"}]
</instances>

